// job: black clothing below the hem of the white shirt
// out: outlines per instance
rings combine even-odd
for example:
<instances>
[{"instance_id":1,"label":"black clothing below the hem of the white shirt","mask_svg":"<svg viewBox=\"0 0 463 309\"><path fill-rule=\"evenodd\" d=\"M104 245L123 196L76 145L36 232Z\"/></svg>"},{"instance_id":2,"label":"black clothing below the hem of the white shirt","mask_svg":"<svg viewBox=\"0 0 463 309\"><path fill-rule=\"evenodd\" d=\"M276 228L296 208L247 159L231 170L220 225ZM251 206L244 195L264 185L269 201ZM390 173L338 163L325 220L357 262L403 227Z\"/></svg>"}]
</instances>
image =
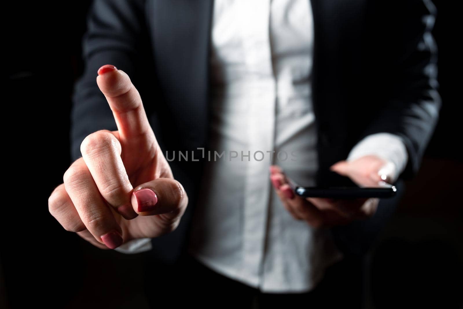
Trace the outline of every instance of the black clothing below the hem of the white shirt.
<instances>
[{"instance_id":1,"label":"black clothing below the hem of the white shirt","mask_svg":"<svg viewBox=\"0 0 463 309\"><path fill-rule=\"evenodd\" d=\"M171 268L156 267L148 258L144 288L150 308L362 308L363 260L346 258L328 267L324 278L308 292L264 293L227 278L184 255Z\"/></svg>"}]
</instances>

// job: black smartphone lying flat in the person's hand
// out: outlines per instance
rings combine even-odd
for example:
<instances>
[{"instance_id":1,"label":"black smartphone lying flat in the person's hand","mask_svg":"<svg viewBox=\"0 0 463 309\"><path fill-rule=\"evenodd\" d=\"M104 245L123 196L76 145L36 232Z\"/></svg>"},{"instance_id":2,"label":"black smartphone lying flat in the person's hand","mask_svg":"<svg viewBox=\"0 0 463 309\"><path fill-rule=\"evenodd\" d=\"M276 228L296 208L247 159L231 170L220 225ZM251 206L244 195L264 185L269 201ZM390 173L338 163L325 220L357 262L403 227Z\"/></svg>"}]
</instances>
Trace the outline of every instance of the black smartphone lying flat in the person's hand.
<instances>
[{"instance_id":1,"label":"black smartphone lying flat in the person's hand","mask_svg":"<svg viewBox=\"0 0 463 309\"><path fill-rule=\"evenodd\" d=\"M294 193L304 198L392 198L397 189L384 181L374 186L359 186L350 178L329 171L319 178L315 186L304 186L286 175Z\"/></svg>"}]
</instances>

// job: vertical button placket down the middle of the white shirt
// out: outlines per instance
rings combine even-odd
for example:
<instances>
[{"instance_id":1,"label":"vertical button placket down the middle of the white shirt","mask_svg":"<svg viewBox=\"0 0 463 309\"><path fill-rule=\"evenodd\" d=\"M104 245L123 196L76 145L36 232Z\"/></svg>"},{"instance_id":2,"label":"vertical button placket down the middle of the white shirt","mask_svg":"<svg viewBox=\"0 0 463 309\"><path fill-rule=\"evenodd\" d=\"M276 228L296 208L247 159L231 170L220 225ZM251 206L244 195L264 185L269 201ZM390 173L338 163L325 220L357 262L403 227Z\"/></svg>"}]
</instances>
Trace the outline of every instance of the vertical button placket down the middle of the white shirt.
<instances>
[{"instance_id":1,"label":"vertical button placket down the middle of the white shirt","mask_svg":"<svg viewBox=\"0 0 463 309\"><path fill-rule=\"evenodd\" d=\"M270 0L242 3L247 6L241 10L241 32L248 72L246 80L249 81L246 91L249 93L250 154L245 175L243 271L247 276L260 280L271 189L269 165L274 155L275 128L275 79L269 42ZM247 161L248 158L244 157L243 160Z\"/></svg>"}]
</instances>

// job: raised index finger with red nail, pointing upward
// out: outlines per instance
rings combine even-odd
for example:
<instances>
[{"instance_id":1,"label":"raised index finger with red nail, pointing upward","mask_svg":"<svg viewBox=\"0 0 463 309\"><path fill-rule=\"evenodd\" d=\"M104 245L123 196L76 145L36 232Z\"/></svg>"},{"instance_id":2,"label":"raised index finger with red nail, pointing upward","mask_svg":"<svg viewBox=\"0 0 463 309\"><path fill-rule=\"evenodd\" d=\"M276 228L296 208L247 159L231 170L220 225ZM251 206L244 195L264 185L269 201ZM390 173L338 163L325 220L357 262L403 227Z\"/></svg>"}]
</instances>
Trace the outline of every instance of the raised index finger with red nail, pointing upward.
<instances>
[{"instance_id":1,"label":"raised index finger with red nail, pointing upward","mask_svg":"<svg viewBox=\"0 0 463 309\"><path fill-rule=\"evenodd\" d=\"M122 144L155 142L153 130L144 111L142 99L129 76L122 70L106 64L98 70L98 87L113 111Z\"/></svg>"}]
</instances>

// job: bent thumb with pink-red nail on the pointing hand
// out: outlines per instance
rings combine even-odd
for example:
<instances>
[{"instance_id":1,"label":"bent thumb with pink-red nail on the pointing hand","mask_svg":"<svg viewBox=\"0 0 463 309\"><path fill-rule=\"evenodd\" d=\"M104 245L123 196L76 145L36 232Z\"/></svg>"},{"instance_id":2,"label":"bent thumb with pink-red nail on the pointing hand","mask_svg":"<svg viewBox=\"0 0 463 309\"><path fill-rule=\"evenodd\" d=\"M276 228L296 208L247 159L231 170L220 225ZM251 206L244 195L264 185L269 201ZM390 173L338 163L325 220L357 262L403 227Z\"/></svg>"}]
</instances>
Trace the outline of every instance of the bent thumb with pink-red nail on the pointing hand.
<instances>
[{"instance_id":1,"label":"bent thumb with pink-red nail on the pointing hand","mask_svg":"<svg viewBox=\"0 0 463 309\"><path fill-rule=\"evenodd\" d=\"M188 196L175 179L158 178L136 187L132 193L133 209L141 216L159 215L160 220L174 222L187 208Z\"/></svg>"}]
</instances>

